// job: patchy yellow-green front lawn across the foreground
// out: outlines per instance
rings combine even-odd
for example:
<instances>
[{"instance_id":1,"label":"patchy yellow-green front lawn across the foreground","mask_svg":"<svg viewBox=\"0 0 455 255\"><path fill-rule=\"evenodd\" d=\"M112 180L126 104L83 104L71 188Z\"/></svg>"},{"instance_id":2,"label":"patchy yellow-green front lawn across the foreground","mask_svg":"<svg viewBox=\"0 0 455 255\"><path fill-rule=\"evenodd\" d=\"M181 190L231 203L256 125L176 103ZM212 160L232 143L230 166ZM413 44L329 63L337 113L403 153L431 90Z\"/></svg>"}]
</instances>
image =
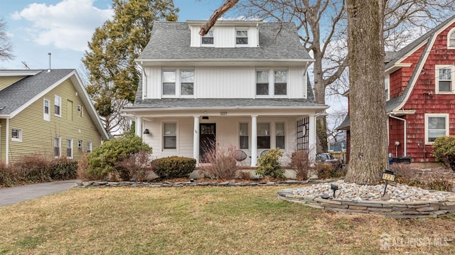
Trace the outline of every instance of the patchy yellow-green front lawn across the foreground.
<instances>
[{"instance_id":1,"label":"patchy yellow-green front lawn across the foreground","mask_svg":"<svg viewBox=\"0 0 455 255\"><path fill-rule=\"evenodd\" d=\"M283 187L72 189L0 207L0 254L455 254L453 217L342 215L277 199Z\"/></svg>"}]
</instances>

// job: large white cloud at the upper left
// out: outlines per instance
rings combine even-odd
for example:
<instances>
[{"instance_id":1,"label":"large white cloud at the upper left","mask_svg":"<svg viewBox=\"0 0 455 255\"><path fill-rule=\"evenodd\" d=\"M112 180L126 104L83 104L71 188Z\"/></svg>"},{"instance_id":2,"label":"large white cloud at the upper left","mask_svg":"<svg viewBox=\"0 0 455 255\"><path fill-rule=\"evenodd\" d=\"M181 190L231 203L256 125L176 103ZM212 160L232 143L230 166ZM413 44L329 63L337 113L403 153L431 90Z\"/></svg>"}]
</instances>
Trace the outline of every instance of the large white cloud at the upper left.
<instances>
[{"instance_id":1,"label":"large white cloud at the upper left","mask_svg":"<svg viewBox=\"0 0 455 255\"><path fill-rule=\"evenodd\" d=\"M111 18L112 9L98 9L95 0L63 0L55 5L29 4L22 11L11 15L15 20L32 23L23 31L38 45L54 45L56 48L87 49L95 28Z\"/></svg>"}]
</instances>

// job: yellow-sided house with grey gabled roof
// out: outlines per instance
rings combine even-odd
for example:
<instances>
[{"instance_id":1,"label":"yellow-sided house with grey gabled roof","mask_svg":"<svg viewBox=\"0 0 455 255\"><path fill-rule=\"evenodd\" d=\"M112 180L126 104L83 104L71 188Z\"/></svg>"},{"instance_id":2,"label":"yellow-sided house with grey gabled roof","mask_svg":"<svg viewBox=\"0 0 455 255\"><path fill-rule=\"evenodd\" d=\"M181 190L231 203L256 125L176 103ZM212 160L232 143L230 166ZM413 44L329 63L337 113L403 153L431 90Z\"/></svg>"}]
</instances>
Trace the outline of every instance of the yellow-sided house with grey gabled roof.
<instances>
[{"instance_id":1,"label":"yellow-sided house with grey gabled roof","mask_svg":"<svg viewBox=\"0 0 455 255\"><path fill-rule=\"evenodd\" d=\"M108 138L76 70L0 70L1 163L77 160Z\"/></svg>"}]
</instances>

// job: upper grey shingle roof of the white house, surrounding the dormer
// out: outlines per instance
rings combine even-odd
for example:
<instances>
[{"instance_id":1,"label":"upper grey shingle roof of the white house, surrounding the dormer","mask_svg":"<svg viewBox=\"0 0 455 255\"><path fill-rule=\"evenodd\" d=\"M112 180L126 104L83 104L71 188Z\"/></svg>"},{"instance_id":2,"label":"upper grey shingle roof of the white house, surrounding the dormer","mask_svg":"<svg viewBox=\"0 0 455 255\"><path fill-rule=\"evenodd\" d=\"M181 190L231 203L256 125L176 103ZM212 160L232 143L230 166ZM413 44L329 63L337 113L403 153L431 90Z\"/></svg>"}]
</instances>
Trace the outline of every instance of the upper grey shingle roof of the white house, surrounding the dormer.
<instances>
[{"instance_id":1,"label":"upper grey shingle roof of the white house, surrounding the dormer","mask_svg":"<svg viewBox=\"0 0 455 255\"><path fill-rule=\"evenodd\" d=\"M186 22L154 23L149 44L137 60L309 60L294 23L262 23L259 47L191 47L191 31Z\"/></svg>"}]
</instances>

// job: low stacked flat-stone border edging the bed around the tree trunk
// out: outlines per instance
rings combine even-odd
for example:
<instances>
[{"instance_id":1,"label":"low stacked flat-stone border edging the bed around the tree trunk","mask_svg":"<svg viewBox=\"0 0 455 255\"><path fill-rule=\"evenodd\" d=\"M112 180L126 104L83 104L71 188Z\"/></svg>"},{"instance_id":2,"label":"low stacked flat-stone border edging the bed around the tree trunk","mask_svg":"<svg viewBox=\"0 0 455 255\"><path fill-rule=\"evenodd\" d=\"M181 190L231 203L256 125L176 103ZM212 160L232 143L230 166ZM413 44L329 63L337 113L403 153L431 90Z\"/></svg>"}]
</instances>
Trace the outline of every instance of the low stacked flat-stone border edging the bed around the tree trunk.
<instances>
[{"instance_id":1,"label":"low stacked flat-stone border edging the bed around the tree trunk","mask_svg":"<svg viewBox=\"0 0 455 255\"><path fill-rule=\"evenodd\" d=\"M385 201L350 201L338 199L323 199L321 197L302 197L294 195L294 188L279 190L278 197L289 202L347 214L384 215L395 219L417 219L427 217L442 217L455 214L455 193L446 193L446 200L421 200L417 202L385 202ZM441 191L434 191L441 192Z\"/></svg>"}]
</instances>

